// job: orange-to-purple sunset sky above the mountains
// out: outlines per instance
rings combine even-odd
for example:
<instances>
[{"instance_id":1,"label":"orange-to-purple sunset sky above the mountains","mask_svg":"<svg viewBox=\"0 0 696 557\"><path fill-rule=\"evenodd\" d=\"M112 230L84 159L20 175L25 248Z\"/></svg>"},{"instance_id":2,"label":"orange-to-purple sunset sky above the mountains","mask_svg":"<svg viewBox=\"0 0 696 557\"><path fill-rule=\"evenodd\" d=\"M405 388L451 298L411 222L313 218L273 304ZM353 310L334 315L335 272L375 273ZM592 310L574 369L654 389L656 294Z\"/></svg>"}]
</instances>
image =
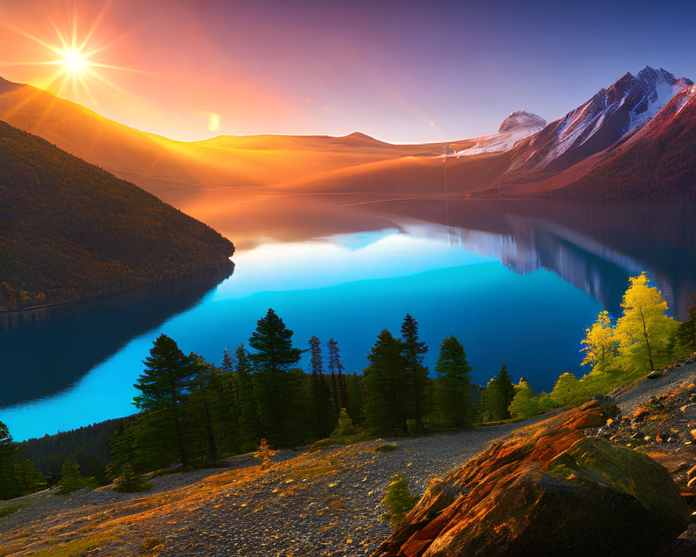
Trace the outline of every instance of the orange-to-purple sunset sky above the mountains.
<instances>
[{"instance_id":1,"label":"orange-to-purple sunset sky above the mountains","mask_svg":"<svg viewBox=\"0 0 696 557\"><path fill-rule=\"evenodd\" d=\"M0 0L0 76L182 141L395 143L548 122L644 65L696 79L696 2ZM76 30L76 31L75 31ZM79 46L90 73L46 64Z\"/></svg>"}]
</instances>

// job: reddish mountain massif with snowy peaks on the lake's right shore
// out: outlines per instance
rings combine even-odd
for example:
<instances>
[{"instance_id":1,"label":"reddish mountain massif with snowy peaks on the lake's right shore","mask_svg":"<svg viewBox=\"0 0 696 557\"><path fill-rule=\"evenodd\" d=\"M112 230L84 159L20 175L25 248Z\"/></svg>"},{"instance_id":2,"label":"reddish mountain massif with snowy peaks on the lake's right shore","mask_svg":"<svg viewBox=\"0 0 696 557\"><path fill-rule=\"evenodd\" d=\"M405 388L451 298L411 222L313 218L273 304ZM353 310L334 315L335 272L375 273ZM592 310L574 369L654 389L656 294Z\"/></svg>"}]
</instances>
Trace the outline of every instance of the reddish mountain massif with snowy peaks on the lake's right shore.
<instances>
[{"instance_id":1,"label":"reddish mountain massif with snowy peaks on the lake's right shore","mask_svg":"<svg viewBox=\"0 0 696 557\"><path fill-rule=\"evenodd\" d=\"M688 102L692 92L690 79L646 66L548 125L539 116L516 111L498 134L470 139L470 146L447 161L381 161L293 187L363 194L682 201L690 199L696 185Z\"/></svg>"}]
</instances>

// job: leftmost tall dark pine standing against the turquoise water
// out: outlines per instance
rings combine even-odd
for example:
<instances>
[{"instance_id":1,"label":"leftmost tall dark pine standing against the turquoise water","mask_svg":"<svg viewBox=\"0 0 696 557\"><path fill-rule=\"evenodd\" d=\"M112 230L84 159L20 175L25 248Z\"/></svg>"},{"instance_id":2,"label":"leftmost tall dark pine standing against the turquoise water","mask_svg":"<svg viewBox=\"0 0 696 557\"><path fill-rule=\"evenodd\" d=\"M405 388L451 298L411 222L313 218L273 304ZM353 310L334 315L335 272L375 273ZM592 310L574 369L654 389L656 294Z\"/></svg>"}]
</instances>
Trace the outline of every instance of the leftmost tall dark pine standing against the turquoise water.
<instances>
[{"instance_id":1,"label":"leftmost tall dark pine standing against the turquoise water","mask_svg":"<svg viewBox=\"0 0 696 557\"><path fill-rule=\"evenodd\" d=\"M171 417L168 427L174 433L182 465L187 466L186 424L182 412L196 373L196 363L164 334L157 337L150 348L150 356L143 363L145 372L134 385L141 395L134 398L134 404L146 413L159 411Z\"/></svg>"}]
</instances>

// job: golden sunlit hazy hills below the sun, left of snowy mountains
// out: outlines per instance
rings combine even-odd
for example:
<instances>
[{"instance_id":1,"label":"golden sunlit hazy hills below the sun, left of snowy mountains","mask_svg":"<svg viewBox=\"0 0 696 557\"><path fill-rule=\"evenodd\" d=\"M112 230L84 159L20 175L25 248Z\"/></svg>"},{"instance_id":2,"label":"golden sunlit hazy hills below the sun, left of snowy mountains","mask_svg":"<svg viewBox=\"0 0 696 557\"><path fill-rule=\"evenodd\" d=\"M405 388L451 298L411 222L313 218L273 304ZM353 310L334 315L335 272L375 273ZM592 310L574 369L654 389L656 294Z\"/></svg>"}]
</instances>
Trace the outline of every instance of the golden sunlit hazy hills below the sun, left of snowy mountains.
<instances>
[{"instance_id":1,"label":"golden sunlit hazy hills below the sun, left of snowy mountains","mask_svg":"<svg viewBox=\"0 0 696 557\"><path fill-rule=\"evenodd\" d=\"M208 223L221 199L230 195L248 195L262 187L402 156L441 155L448 145L392 145L357 132L343 137L263 134L174 141L134 130L48 91L1 78L0 120L134 182ZM455 148L472 145L464 142Z\"/></svg>"}]
</instances>

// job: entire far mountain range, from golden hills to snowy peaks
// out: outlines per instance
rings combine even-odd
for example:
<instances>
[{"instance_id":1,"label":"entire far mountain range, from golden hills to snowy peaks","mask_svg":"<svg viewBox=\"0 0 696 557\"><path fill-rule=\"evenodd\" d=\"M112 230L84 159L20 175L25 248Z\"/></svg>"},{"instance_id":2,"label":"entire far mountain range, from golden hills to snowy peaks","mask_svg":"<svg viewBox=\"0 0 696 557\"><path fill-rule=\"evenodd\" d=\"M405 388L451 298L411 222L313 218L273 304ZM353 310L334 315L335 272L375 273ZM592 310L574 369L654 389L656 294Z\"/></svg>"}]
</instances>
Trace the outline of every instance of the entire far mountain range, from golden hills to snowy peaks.
<instances>
[{"instance_id":1,"label":"entire far mountain range, from golden hills to snowy peaks","mask_svg":"<svg viewBox=\"0 0 696 557\"><path fill-rule=\"evenodd\" d=\"M516 111L497 134L421 145L394 145L358 132L173 141L5 80L0 119L248 246L259 236L297 240L298 225L312 228L312 237L348 232L349 226L334 223L350 221L346 207L374 196L681 199L693 189L690 168L696 166L687 133L691 111L670 106L692 87L686 77L646 66L548 125ZM667 162L672 166L665 167ZM634 180L631 170L639 166L642 185L622 187L619 178ZM346 203L329 202L337 196Z\"/></svg>"}]
</instances>

